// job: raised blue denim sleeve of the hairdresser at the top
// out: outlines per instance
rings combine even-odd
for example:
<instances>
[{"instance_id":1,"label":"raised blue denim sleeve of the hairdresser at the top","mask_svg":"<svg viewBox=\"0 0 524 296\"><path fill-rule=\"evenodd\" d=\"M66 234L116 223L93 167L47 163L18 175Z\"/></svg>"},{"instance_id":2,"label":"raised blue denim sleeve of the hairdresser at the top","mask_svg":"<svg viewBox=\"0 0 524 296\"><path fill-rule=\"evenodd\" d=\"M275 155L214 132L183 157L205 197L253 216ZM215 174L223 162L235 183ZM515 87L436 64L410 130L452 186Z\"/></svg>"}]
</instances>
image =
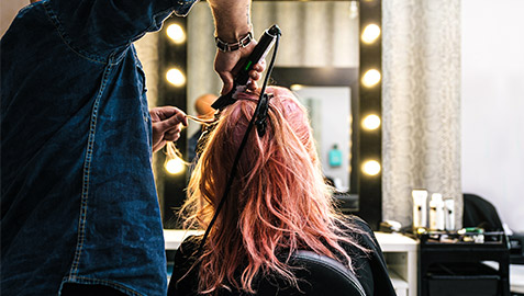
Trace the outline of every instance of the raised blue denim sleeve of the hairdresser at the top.
<instances>
[{"instance_id":1,"label":"raised blue denim sleeve of the hairdresser at the top","mask_svg":"<svg viewBox=\"0 0 524 296\"><path fill-rule=\"evenodd\" d=\"M172 12L186 15L198 0L48 0L47 13L80 54L107 59L157 31Z\"/></svg>"}]
</instances>

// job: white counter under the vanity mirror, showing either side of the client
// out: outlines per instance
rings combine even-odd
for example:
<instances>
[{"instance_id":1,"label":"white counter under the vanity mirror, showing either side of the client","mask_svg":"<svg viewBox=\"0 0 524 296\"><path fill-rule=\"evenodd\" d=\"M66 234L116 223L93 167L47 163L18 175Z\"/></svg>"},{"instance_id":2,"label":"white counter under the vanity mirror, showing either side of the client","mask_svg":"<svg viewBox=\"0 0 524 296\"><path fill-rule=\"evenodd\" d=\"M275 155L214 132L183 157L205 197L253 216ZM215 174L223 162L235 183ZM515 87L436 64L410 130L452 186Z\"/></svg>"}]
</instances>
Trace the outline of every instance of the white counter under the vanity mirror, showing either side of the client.
<instances>
[{"instance_id":1,"label":"white counter under the vanity mirror, showing either side of the client","mask_svg":"<svg viewBox=\"0 0 524 296\"><path fill-rule=\"evenodd\" d=\"M166 250L176 250L188 236L202 235L200 230L164 229ZM375 232L382 249L397 295L416 295L416 265L419 242L399 234Z\"/></svg>"}]
</instances>

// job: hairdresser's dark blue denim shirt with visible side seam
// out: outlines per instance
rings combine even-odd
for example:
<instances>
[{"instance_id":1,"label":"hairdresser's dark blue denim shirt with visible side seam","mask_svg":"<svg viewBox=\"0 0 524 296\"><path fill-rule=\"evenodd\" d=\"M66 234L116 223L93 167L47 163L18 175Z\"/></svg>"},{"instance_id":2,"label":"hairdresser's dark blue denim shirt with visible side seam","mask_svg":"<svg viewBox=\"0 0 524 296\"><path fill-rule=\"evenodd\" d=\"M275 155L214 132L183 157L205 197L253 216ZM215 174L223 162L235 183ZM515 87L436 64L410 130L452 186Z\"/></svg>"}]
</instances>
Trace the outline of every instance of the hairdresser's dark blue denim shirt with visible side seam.
<instances>
[{"instance_id":1,"label":"hairdresser's dark blue denim shirt with visible side seam","mask_svg":"<svg viewBox=\"0 0 524 296\"><path fill-rule=\"evenodd\" d=\"M152 123L132 42L197 0L44 0L1 39L1 295L165 295Z\"/></svg>"}]
</instances>

